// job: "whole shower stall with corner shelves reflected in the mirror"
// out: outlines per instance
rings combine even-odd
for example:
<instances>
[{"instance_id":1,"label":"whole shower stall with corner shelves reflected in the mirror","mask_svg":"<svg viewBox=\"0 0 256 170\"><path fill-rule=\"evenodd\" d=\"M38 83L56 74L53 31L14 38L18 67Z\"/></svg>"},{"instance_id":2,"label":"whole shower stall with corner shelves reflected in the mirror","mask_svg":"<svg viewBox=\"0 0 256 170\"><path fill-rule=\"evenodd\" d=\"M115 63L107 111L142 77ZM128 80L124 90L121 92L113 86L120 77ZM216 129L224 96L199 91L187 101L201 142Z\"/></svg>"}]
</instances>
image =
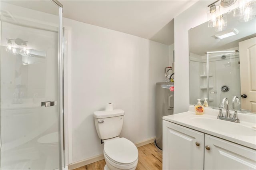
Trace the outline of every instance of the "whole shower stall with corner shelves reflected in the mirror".
<instances>
[{"instance_id":1,"label":"whole shower stall with corner shelves reflected in the mirror","mask_svg":"<svg viewBox=\"0 0 256 170\"><path fill-rule=\"evenodd\" d=\"M206 99L210 107L218 107L224 97L232 101L240 96L239 51L190 53L190 84L190 104Z\"/></svg>"}]
</instances>

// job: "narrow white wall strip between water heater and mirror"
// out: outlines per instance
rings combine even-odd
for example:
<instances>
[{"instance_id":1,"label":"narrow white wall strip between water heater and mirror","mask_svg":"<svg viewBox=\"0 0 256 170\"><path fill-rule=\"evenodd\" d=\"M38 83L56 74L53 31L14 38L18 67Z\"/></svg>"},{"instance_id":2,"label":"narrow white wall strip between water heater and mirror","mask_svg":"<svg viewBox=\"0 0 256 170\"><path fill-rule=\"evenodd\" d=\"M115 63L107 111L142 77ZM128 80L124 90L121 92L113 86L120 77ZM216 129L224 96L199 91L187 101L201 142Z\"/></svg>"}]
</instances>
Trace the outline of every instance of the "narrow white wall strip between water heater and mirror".
<instances>
[{"instance_id":1,"label":"narrow white wall strip between water heater and mirror","mask_svg":"<svg viewBox=\"0 0 256 170\"><path fill-rule=\"evenodd\" d=\"M212 1L198 1L174 18L174 114L188 111L190 83L188 30L207 21L206 10L210 3Z\"/></svg>"}]
</instances>

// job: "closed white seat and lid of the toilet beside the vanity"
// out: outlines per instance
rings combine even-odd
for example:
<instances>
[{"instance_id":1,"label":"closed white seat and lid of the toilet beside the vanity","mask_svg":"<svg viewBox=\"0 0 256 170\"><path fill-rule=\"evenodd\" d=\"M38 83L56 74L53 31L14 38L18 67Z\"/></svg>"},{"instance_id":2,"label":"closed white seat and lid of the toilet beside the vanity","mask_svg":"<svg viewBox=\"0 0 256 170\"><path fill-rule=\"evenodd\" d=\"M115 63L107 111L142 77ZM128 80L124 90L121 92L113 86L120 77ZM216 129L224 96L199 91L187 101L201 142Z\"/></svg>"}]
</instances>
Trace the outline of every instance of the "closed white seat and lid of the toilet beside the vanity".
<instances>
[{"instance_id":1,"label":"closed white seat and lid of the toilet beside the vanity","mask_svg":"<svg viewBox=\"0 0 256 170\"><path fill-rule=\"evenodd\" d=\"M104 156L110 162L120 166L134 166L138 162L138 149L130 140L115 138L104 143Z\"/></svg>"}]
</instances>

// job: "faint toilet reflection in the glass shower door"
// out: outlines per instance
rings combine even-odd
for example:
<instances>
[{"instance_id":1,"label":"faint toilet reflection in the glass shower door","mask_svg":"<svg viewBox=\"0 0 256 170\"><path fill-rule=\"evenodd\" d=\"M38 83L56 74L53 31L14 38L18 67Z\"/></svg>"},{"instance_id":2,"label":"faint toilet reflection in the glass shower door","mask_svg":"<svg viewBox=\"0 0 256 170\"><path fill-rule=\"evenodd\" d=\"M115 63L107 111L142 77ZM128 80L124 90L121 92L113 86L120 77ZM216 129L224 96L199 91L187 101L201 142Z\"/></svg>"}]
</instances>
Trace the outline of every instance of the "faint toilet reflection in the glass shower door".
<instances>
[{"instance_id":1,"label":"faint toilet reflection in the glass shower door","mask_svg":"<svg viewBox=\"0 0 256 170\"><path fill-rule=\"evenodd\" d=\"M58 140L58 132L46 134L37 140L38 148L46 158L44 169L56 169L59 166Z\"/></svg>"}]
</instances>

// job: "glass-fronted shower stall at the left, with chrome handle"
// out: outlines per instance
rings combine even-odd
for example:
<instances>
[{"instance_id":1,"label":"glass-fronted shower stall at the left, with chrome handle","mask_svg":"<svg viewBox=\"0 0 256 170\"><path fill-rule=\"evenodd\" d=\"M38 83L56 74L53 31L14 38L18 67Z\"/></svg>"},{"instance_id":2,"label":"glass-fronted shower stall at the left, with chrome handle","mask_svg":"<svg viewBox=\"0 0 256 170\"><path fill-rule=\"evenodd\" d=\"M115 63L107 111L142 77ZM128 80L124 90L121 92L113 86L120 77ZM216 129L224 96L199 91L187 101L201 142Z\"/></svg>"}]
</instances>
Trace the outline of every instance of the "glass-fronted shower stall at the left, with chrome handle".
<instances>
[{"instance_id":1,"label":"glass-fronted shower stall at the left, with chrome handle","mask_svg":"<svg viewBox=\"0 0 256 170\"><path fill-rule=\"evenodd\" d=\"M1 1L0 9L1 169L62 169L62 4Z\"/></svg>"}]
</instances>

